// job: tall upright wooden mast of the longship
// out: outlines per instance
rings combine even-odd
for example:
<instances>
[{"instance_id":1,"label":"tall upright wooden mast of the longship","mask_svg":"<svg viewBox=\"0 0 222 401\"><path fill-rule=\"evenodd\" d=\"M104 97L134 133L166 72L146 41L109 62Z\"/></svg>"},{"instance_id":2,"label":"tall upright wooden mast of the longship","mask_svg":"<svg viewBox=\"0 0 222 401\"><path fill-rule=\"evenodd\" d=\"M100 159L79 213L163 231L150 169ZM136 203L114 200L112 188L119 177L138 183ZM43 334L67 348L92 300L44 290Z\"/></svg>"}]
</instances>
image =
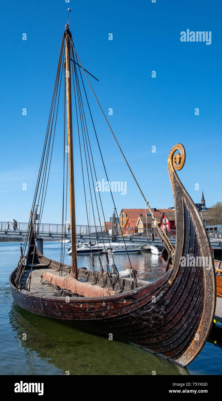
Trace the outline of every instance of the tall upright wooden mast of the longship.
<instances>
[{"instance_id":1,"label":"tall upright wooden mast of the longship","mask_svg":"<svg viewBox=\"0 0 222 401\"><path fill-rule=\"evenodd\" d=\"M78 279L77 252L76 252L76 213L75 213L75 192L74 192L73 141L72 141L70 40L68 37L68 24L66 24L65 41L66 41L66 106L67 106L69 192L70 192L70 219L71 219L71 243L72 243L72 274L76 279Z\"/></svg>"}]
</instances>

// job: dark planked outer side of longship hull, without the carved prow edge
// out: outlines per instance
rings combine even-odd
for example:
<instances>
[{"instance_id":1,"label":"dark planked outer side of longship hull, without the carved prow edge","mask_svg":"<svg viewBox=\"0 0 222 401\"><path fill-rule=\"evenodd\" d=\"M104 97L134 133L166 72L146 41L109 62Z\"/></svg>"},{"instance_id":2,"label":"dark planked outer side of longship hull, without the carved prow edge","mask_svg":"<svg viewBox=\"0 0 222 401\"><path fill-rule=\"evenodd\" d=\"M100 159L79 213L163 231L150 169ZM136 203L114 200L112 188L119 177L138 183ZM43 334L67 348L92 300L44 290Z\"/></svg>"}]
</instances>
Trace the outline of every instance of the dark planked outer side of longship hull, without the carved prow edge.
<instances>
[{"instance_id":1,"label":"dark planked outer side of longship hull, without the carved prow edge","mask_svg":"<svg viewBox=\"0 0 222 401\"><path fill-rule=\"evenodd\" d=\"M14 301L30 312L72 322L78 328L107 337L112 333L114 338L185 365L178 358L200 324L203 282L200 278L197 283L194 272L186 278L181 271L178 276L181 284L174 281L170 285L171 274L169 270L156 282L126 294L96 299L70 298L69 303L64 298L43 296L41 299L28 291L17 292L11 288ZM192 298L186 294L186 285L193 292Z\"/></svg>"}]
</instances>

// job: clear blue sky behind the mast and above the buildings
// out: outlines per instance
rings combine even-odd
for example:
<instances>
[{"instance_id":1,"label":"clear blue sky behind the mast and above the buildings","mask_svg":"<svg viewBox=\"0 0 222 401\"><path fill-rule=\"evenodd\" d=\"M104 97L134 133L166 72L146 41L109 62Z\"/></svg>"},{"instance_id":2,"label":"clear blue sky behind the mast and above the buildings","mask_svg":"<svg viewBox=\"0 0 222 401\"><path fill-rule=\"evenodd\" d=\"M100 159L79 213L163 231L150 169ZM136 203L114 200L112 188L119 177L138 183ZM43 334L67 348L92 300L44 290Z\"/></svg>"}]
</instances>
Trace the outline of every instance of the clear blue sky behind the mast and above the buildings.
<instances>
[{"instance_id":1,"label":"clear blue sky behind the mast and above the buildings","mask_svg":"<svg viewBox=\"0 0 222 401\"><path fill-rule=\"evenodd\" d=\"M72 8L70 30L82 65L99 79L90 78L90 82L150 205L173 206L167 158L178 142L186 149L186 163L178 175L194 201L200 201L202 188L207 206L221 201L219 0L11 1L2 2L0 16L0 221L29 218L68 8ZM211 31L211 45L181 42L180 32L186 29ZM26 33L26 41L22 41L22 33ZM156 78L151 76L153 70ZM127 182L126 195L114 193L117 210L143 208L143 198L89 87L88 94L109 179ZM108 115L110 107L113 115ZM197 107L199 115L194 114ZM60 111L45 223L62 219L62 108ZM77 144L74 130L76 223L86 224ZM93 149L98 179L105 179L96 147ZM22 190L23 183L26 190ZM109 220L113 211L110 194L102 193L102 200Z\"/></svg>"}]
</instances>

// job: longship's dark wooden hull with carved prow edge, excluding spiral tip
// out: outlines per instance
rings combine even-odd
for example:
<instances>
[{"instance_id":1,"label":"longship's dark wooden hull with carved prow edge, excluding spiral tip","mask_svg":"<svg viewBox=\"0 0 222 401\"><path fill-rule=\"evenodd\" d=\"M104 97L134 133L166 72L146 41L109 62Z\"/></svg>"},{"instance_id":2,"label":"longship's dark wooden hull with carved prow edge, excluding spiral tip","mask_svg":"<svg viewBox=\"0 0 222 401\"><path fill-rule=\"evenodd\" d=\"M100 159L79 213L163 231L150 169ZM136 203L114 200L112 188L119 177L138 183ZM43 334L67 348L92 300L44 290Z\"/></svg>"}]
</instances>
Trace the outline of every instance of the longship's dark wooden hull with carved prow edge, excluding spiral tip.
<instances>
[{"instance_id":1,"label":"longship's dark wooden hull with carved prow edge, excluding spiral tip","mask_svg":"<svg viewBox=\"0 0 222 401\"><path fill-rule=\"evenodd\" d=\"M10 275L15 302L22 308L50 318L72 322L84 330L98 332L147 348L179 365L188 365L204 346L216 306L215 272L202 264L183 266L182 257L209 257L212 252L206 230L190 196L168 163L174 192L177 237L171 269L153 283L130 288L121 279L123 292L99 298L48 296L39 288L18 290L16 269ZM44 258L46 263L46 258ZM50 261L50 266L56 262ZM46 269L47 270L47 269ZM36 270L36 273L38 271ZM79 277L84 273L78 269ZM98 273L99 274L99 273ZM82 275L82 276L81 276ZM102 274L97 283L102 286ZM133 284L133 283L132 283Z\"/></svg>"}]
</instances>

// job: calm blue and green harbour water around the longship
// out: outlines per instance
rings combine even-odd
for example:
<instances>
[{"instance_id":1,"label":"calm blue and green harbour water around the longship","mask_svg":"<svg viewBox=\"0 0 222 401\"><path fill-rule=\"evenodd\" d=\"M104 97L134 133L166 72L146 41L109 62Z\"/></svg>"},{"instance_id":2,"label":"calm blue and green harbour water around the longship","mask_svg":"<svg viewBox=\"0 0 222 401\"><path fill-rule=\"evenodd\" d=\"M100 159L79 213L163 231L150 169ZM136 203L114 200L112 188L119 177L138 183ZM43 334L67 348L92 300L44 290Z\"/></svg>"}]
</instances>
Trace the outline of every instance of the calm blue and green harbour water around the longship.
<instances>
[{"instance_id":1,"label":"calm blue and green harbour water around the longship","mask_svg":"<svg viewBox=\"0 0 222 401\"><path fill-rule=\"evenodd\" d=\"M67 247L65 245L65 247ZM44 255L60 261L60 243L44 242ZM20 245L0 243L1 375L215 375L221 372L222 340L211 334L203 350L187 369L178 368L145 350L124 342L76 330L36 316L14 304L8 277L18 263ZM96 256L95 256L96 264ZM150 253L131 255L138 274L154 281L162 274L159 258ZM70 257L65 255L65 263ZM121 269L126 255L115 258ZM90 256L78 257L79 267L90 267ZM22 340L26 333L26 340ZM222 345L220 345L222 347Z\"/></svg>"}]
</instances>

